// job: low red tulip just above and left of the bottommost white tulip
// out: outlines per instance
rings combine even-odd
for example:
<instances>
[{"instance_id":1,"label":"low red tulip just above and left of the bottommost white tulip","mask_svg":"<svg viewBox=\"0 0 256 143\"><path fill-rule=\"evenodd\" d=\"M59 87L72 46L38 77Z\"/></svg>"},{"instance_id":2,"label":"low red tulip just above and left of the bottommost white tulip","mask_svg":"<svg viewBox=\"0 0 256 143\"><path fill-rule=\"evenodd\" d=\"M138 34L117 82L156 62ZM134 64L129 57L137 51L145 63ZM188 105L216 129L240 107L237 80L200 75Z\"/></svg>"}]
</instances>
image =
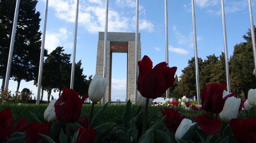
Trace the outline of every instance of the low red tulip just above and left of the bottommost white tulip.
<instances>
[{"instance_id":1,"label":"low red tulip just above and left of the bottommost white tulip","mask_svg":"<svg viewBox=\"0 0 256 143\"><path fill-rule=\"evenodd\" d=\"M164 108L164 111L162 109L160 110L163 114L163 117L166 115L164 119L165 126L170 130L173 129L173 131L176 131L181 121L186 118L184 115L180 115L178 110L175 111L174 109L167 108Z\"/></svg>"}]
</instances>

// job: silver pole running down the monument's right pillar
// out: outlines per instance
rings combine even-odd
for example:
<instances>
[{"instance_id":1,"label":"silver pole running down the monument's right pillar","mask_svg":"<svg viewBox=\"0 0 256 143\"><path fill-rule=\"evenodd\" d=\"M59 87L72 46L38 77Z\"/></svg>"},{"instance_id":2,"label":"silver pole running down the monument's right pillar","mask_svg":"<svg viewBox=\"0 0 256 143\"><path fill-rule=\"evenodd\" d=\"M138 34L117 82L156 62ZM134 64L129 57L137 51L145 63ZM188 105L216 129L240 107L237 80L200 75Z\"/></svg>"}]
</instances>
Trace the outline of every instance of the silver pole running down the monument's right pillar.
<instances>
[{"instance_id":1,"label":"silver pole running down the monument's right pillar","mask_svg":"<svg viewBox=\"0 0 256 143\"><path fill-rule=\"evenodd\" d=\"M135 29L135 103L137 101L137 78L138 78L138 35L139 35L139 0L136 0L136 29Z\"/></svg>"}]
</instances>

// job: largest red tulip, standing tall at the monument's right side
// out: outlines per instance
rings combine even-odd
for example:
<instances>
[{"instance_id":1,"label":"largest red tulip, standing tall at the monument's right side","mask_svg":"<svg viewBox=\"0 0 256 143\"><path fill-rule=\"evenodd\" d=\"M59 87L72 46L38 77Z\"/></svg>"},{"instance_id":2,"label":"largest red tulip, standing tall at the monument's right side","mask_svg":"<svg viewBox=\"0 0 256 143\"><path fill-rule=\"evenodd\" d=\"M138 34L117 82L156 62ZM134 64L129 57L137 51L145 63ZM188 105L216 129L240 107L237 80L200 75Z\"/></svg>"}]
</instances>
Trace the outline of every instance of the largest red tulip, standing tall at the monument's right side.
<instances>
[{"instance_id":1,"label":"largest red tulip, standing tall at the monument's right side","mask_svg":"<svg viewBox=\"0 0 256 143\"><path fill-rule=\"evenodd\" d=\"M143 97L156 99L173 86L177 67L170 68L167 67L167 63L162 62L152 69L153 63L148 56L144 56L141 61L138 61L138 66L137 89Z\"/></svg>"}]
</instances>

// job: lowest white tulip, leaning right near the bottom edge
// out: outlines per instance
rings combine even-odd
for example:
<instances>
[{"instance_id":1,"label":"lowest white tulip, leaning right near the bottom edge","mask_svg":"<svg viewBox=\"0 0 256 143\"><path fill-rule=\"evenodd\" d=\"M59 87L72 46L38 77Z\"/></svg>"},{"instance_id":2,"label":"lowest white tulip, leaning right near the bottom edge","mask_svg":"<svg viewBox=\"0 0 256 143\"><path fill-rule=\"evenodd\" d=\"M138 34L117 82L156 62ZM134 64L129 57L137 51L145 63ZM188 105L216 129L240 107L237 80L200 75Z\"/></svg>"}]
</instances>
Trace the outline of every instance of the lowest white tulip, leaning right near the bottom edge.
<instances>
[{"instance_id":1,"label":"lowest white tulip, leaning right near the bottom edge","mask_svg":"<svg viewBox=\"0 0 256 143\"><path fill-rule=\"evenodd\" d=\"M186 132L194 125L195 123L192 123L189 119L183 119L175 133L175 140L179 143L180 141L178 139L182 139Z\"/></svg>"}]
</instances>

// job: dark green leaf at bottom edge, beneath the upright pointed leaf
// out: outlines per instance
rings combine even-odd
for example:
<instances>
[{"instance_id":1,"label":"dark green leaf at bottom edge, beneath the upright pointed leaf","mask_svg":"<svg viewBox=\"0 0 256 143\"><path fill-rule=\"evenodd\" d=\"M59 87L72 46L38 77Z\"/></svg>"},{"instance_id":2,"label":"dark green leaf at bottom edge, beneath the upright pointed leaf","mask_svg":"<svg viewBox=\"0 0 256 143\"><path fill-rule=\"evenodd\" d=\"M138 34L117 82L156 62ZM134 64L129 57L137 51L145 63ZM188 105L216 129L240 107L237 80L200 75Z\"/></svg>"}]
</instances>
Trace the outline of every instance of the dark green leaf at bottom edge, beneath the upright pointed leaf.
<instances>
[{"instance_id":1,"label":"dark green leaf at bottom edge, beneath the upright pointed leaf","mask_svg":"<svg viewBox=\"0 0 256 143\"><path fill-rule=\"evenodd\" d=\"M116 136L117 139L122 143L131 143L131 137L126 133L127 129L124 130L120 128L113 128L110 132L113 136Z\"/></svg>"}]
</instances>

